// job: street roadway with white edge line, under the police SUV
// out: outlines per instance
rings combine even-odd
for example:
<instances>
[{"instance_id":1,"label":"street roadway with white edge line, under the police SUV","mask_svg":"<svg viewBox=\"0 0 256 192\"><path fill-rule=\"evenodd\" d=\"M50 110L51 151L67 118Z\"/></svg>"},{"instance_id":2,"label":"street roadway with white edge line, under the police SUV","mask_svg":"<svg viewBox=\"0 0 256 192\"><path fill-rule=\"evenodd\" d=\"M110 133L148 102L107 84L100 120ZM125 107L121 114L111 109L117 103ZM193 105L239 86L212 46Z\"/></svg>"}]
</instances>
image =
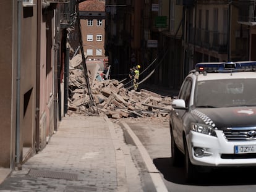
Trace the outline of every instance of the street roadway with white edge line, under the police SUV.
<instances>
[{"instance_id":1,"label":"street roadway with white edge line, under the police SUV","mask_svg":"<svg viewBox=\"0 0 256 192\"><path fill-rule=\"evenodd\" d=\"M172 167L169 163L171 156L171 144L169 135L169 123L158 120L138 121L126 120L125 122L135 133L137 138L143 144L145 149L153 161L156 169L159 170L164 185L168 191L184 192L184 191L255 191L256 182L251 176L256 169L220 169L211 173L202 173L200 181L194 184L188 184L184 178L184 168ZM124 124L125 124L124 123ZM126 128L124 136L126 142L130 141L130 135L127 135ZM138 147L138 146L137 146ZM155 191L148 187L150 177L148 177L145 165L142 165L142 156L138 155L138 151L132 149L132 157L140 172L143 185L143 191ZM152 185L152 184L151 184Z\"/></svg>"}]
</instances>

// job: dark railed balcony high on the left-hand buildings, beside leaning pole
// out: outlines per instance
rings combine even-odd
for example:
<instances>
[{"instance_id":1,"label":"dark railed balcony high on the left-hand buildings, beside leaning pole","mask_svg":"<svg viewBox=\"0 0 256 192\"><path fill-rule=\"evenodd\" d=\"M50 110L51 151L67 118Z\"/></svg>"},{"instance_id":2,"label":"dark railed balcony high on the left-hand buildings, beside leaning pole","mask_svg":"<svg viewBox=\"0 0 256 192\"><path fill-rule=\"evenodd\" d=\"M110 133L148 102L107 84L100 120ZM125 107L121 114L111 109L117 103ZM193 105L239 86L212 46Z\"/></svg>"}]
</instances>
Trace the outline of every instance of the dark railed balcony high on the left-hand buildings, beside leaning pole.
<instances>
[{"instance_id":1,"label":"dark railed balcony high on the left-hand buildings, beside leaning pole","mask_svg":"<svg viewBox=\"0 0 256 192\"><path fill-rule=\"evenodd\" d=\"M60 23L61 28L71 27L76 20L75 0L69 0L69 3L61 4Z\"/></svg>"}]
</instances>

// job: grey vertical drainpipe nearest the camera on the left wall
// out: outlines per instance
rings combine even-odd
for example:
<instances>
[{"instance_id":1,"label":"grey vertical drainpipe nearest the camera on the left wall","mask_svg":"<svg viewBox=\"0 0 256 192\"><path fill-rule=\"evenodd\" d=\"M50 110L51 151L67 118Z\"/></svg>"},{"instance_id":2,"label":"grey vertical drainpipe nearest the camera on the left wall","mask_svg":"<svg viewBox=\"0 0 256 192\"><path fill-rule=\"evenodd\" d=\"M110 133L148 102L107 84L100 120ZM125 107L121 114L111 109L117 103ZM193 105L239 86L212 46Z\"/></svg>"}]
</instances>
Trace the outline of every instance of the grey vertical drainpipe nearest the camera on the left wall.
<instances>
[{"instance_id":1,"label":"grey vertical drainpipe nearest the camera on the left wall","mask_svg":"<svg viewBox=\"0 0 256 192\"><path fill-rule=\"evenodd\" d=\"M17 94L16 94L16 165L21 169L20 164L20 39L21 39L21 14L22 14L22 1L18 0L18 18L17 18Z\"/></svg>"}]
</instances>

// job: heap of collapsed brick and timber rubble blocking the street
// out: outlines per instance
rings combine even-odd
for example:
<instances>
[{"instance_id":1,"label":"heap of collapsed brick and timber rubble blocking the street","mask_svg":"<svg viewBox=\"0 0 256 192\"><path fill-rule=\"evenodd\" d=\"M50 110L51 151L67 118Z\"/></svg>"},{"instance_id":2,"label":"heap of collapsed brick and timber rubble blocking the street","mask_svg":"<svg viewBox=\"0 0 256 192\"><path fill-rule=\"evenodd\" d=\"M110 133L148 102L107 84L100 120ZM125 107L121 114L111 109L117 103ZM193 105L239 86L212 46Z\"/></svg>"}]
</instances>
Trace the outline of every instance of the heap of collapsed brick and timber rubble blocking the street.
<instances>
[{"instance_id":1,"label":"heap of collapsed brick and timber rubble blocking the street","mask_svg":"<svg viewBox=\"0 0 256 192\"><path fill-rule=\"evenodd\" d=\"M83 70L76 60L70 61L69 75L69 111L80 114L90 113L90 96L86 88ZM94 64L95 65L95 64ZM75 67L74 67L75 66ZM96 67L96 69L98 69ZM98 80L99 72L87 66L90 77L90 90L95 109L111 119L127 117L168 117L171 109L171 97L161 96L148 90L127 90L118 80ZM92 73L94 72L94 73Z\"/></svg>"}]
</instances>

